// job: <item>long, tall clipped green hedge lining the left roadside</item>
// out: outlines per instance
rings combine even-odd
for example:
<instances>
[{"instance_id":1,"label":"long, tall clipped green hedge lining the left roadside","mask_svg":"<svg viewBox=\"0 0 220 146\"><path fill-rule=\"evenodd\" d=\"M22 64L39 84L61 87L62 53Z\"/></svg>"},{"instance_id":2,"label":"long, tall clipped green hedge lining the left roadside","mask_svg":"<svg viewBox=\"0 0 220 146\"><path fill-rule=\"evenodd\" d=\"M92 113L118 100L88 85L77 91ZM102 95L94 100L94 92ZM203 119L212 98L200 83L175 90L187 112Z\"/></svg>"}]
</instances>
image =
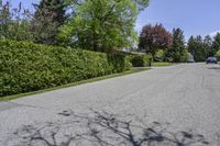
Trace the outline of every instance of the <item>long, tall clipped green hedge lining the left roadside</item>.
<instances>
[{"instance_id":1,"label":"long, tall clipped green hedge lining the left roadside","mask_svg":"<svg viewBox=\"0 0 220 146\"><path fill-rule=\"evenodd\" d=\"M0 41L0 97L130 69L127 56Z\"/></svg>"}]
</instances>

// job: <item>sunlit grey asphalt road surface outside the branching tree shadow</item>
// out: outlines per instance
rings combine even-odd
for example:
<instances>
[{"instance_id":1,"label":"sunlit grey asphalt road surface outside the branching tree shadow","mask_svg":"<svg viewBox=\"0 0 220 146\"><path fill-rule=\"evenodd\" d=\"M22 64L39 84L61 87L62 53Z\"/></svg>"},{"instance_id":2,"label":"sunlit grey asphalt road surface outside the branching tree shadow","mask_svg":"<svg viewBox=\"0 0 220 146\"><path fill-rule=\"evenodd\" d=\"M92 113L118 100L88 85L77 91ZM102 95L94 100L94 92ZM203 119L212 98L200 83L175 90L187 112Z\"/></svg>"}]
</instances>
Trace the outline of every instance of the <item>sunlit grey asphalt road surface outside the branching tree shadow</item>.
<instances>
[{"instance_id":1,"label":"sunlit grey asphalt road surface outside the branching tree shadow","mask_svg":"<svg viewBox=\"0 0 220 146\"><path fill-rule=\"evenodd\" d=\"M209 145L218 146L220 66L182 64L158 67L134 75L25 97L8 103L2 102L0 145L20 144L21 142L12 135L23 125L65 121L66 117L58 113L74 111L89 114L91 109L122 116L138 116L147 124L155 121L169 123L172 132L187 131L201 134Z\"/></svg>"}]
</instances>

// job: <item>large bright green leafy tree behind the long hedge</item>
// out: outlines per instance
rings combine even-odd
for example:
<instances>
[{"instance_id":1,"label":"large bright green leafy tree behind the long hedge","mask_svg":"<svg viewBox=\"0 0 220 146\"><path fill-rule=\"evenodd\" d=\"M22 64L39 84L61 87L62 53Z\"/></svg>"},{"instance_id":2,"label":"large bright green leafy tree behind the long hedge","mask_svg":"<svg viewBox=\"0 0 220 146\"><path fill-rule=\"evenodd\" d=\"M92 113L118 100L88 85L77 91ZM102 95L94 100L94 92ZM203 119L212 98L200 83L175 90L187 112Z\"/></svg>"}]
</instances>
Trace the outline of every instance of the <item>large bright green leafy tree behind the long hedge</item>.
<instances>
[{"instance_id":1,"label":"large bright green leafy tree behind the long hedge","mask_svg":"<svg viewBox=\"0 0 220 146\"><path fill-rule=\"evenodd\" d=\"M62 45L109 52L136 42L134 24L148 0L73 0L72 19L61 29Z\"/></svg>"}]
</instances>

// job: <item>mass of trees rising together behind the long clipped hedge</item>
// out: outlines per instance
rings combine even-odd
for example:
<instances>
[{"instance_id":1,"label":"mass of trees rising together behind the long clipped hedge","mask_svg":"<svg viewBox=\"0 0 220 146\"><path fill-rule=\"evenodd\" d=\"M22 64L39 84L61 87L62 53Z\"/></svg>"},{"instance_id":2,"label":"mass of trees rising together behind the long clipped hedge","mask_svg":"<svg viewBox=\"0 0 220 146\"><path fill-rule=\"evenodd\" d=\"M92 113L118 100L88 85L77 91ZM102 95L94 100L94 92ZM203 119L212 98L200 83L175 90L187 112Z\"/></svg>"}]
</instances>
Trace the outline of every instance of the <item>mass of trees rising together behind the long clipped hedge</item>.
<instances>
[{"instance_id":1,"label":"mass of trees rising together behind the long clipped hedge","mask_svg":"<svg viewBox=\"0 0 220 146\"><path fill-rule=\"evenodd\" d=\"M136 43L135 20L148 0L41 0L33 5L34 14L0 0L0 40L110 52Z\"/></svg>"}]
</instances>

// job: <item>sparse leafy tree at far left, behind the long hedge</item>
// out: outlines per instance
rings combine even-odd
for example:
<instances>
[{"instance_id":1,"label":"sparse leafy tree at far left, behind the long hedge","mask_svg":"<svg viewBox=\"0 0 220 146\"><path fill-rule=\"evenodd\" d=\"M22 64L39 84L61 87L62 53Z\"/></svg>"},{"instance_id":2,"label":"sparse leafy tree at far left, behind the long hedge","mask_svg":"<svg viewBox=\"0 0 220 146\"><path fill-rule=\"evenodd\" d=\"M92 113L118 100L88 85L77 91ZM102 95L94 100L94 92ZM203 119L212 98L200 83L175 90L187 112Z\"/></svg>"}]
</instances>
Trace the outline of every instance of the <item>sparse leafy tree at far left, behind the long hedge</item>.
<instances>
[{"instance_id":1,"label":"sparse leafy tree at far left, behind the long hedge","mask_svg":"<svg viewBox=\"0 0 220 146\"><path fill-rule=\"evenodd\" d=\"M22 8L20 2L18 8L12 8L10 2L0 1L0 38L32 41L30 31L31 13Z\"/></svg>"}]
</instances>

